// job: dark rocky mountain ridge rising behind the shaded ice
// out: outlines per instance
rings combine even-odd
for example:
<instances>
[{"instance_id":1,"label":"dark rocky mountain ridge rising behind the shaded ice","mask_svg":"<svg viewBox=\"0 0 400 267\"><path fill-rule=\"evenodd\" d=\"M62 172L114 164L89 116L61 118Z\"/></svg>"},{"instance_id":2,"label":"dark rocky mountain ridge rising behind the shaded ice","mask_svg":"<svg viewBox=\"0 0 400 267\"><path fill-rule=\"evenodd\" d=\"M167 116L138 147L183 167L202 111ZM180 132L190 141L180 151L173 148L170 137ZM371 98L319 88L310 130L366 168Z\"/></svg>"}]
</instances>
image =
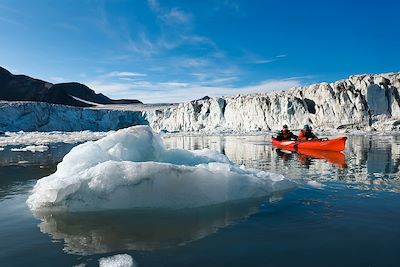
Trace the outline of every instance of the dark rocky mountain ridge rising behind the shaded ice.
<instances>
[{"instance_id":1,"label":"dark rocky mountain ridge rising behind the shaded ice","mask_svg":"<svg viewBox=\"0 0 400 267\"><path fill-rule=\"evenodd\" d=\"M52 84L25 75L14 75L0 67L0 100L39 101L77 107L92 106L74 97L98 104L141 103L135 99L110 99L103 94L96 94L84 84L75 82Z\"/></svg>"}]
</instances>

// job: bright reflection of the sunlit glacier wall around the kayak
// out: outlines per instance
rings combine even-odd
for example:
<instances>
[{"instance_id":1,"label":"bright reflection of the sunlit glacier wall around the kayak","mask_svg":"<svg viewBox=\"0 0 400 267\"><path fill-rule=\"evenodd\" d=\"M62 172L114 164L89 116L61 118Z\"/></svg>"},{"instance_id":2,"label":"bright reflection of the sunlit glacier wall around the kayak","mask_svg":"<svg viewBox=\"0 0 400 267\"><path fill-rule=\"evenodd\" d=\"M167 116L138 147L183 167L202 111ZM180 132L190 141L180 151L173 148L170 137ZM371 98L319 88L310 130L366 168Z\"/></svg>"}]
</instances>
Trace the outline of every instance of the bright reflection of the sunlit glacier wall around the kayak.
<instances>
[{"instance_id":1,"label":"bright reflection of the sunlit glacier wall around the kayak","mask_svg":"<svg viewBox=\"0 0 400 267\"><path fill-rule=\"evenodd\" d=\"M270 136L170 136L167 147L209 148L248 167L292 179L340 180L351 187L400 191L400 136L348 136L344 154L276 151ZM346 168L347 167L347 168Z\"/></svg>"}]
</instances>

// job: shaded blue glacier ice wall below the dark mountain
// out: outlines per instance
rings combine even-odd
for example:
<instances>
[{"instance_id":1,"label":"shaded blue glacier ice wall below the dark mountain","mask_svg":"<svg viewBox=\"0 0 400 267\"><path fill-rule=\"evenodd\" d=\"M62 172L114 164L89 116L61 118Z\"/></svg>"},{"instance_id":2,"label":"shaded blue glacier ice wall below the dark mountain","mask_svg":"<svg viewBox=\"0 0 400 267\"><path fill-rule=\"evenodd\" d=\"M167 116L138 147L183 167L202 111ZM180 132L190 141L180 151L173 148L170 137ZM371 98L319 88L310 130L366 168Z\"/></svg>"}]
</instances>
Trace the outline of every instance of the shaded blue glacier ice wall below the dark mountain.
<instances>
[{"instance_id":1,"label":"shaded blue glacier ice wall below the dark mountain","mask_svg":"<svg viewBox=\"0 0 400 267\"><path fill-rule=\"evenodd\" d=\"M138 124L148 124L140 111L0 101L0 129L7 131L109 131Z\"/></svg>"}]
</instances>

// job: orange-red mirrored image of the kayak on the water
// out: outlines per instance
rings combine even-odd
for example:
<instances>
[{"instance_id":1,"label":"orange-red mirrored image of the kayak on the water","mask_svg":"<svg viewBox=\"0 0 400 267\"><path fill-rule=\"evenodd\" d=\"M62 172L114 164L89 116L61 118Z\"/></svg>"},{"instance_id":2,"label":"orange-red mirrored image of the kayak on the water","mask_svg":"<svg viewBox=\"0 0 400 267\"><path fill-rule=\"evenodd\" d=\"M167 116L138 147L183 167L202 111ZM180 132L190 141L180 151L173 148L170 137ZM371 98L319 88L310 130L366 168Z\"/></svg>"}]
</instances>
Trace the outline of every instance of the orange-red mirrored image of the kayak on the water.
<instances>
[{"instance_id":1,"label":"orange-red mirrored image of the kayak on the water","mask_svg":"<svg viewBox=\"0 0 400 267\"><path fill-rule=\"evenodd\" d=\"M279 157L284 161L292 160L294 154L297 154L298 161L305 166L311 164L312 159L321 159L329 163L339 166L344 169L347 168L346 157L341 152L336 151L324 151L324 150L313 150L313 149L281 149L276 148L276 152ZM294 152L294 153L292 153Z\"/></svg>"}]
</instances>

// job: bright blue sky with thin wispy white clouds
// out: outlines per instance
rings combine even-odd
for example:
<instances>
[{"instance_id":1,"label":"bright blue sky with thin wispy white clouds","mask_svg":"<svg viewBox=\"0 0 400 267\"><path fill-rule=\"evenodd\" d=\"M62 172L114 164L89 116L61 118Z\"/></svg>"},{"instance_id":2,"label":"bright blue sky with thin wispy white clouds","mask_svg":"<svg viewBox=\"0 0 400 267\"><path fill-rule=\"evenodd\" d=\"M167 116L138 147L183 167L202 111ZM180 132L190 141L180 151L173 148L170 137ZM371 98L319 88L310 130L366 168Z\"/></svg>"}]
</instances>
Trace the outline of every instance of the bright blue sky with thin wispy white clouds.
<instances>
[{"instance_id":1,"label":"bright blue sky with thin wispy white clouds","mask_svg":"<svg viewBox=\"0 0 400 267\"><path fill-rule=\"evenodd\" d=\"M400 71L398 1L2 0L0 65L177 102Z\"/></svg>"}]
</instances>

